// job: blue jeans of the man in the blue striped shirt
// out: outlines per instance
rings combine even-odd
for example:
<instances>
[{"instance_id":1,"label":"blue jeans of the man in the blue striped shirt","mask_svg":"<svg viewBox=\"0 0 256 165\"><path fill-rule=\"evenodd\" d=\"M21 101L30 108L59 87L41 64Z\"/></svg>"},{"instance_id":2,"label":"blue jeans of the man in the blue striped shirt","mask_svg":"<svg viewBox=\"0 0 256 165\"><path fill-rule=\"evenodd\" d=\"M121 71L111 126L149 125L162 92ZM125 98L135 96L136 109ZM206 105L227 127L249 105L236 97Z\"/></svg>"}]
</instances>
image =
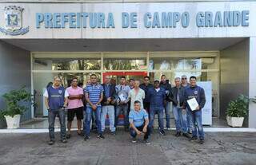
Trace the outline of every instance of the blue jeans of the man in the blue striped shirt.
<instances>
[{"instance_id":1,"label":"blue jeans of the man in the blue striped shirt","mask_svg":"<svg viewBox=\"0 0 256 165\"><path fill-rule=\"evenodd\" d=\"M86 127L86 129L84 129L85 135L90 136L90 120L93 113L95 114L95 118L96 118L98 134L101 134L102 133L102 124L101 124L102 107L98 106L97 109L93 111L93 108L87 106L85 108L85 111L86 111L84 115L85 120L83 121L83 125L84 127Z\"/></svg>"}]
</instances>

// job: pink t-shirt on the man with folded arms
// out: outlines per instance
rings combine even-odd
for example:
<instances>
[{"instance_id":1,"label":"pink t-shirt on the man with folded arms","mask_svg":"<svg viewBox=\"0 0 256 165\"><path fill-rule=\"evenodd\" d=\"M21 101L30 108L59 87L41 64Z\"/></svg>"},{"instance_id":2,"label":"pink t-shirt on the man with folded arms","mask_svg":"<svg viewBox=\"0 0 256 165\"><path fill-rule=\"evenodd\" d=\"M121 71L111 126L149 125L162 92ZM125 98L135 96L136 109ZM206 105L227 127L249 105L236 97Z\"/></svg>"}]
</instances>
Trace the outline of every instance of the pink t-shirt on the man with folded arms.
<instances>
[{"instance_id":1,"label":"pink t-shirt on the man with folded arms","mask_svg":"<svg viewBox=\"0 0 256 165\"><path fill-rule=\"evenodd\" d=\"M70 86L69 88L66 88L66 91L69 93L69 95L83 95L83 89L81 87L73 88ZM82 99L74 99L74 100L68 100L68 109L74 109L83 107Z\"/></svg>"}]
</instances>

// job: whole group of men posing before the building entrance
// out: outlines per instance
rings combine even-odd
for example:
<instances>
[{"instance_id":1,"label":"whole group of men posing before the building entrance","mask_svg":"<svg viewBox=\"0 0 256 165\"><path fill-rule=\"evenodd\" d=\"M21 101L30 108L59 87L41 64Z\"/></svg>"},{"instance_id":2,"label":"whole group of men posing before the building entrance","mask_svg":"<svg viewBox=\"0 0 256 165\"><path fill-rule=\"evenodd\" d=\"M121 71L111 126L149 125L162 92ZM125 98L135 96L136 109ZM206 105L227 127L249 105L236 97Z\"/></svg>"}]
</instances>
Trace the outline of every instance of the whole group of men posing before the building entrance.
<instances>
[{"instance_id":1,"label":"whole group of men posing before the building entrance","mask_svg":"<svg viewBox=\"0 0 256 165\"><path fill-rule=\"evenodd\" d=\"M162 75L161 81L150 84L150 77L144 77L143 83L126 77L121 77L118 85L111 83L110 76L99 84L95 74L90 75L90 81L85 88L78 86L78 78L74 77L68 88L62 87L61 79L54 77L54 83L44 92L45 104L49 116L49 144L55 142L54 120L58 116L61 125L61 140L66 143L70 139L71 124L76 116L78 120L78 135L85 140L90 139L92 118L95 120L98 138L104 139L106 117L109 118L110 132L114 136L119 123L118 116L124 116L124 128L130 131L132 143L136 137L142 136L146 144L150 144L149 137L154 128L154 117L158 114L158 131L162 136L164 131L164 113L166 115L166 129L170 130L170 106L173 104L173 114L176 126L175 136L186 136L191 141L199 138L204 143L202 128L202 108L206 103L204 89L196 84L196 77L182 76L174 79L175 86ZM187 100L195 98L198 102L196 109L191 109ZM67 109L67 132L66 113ZM83 120L83 130L82 130ZM192 136L189 134L192 133Z\"/></svg>"}]
</instances>

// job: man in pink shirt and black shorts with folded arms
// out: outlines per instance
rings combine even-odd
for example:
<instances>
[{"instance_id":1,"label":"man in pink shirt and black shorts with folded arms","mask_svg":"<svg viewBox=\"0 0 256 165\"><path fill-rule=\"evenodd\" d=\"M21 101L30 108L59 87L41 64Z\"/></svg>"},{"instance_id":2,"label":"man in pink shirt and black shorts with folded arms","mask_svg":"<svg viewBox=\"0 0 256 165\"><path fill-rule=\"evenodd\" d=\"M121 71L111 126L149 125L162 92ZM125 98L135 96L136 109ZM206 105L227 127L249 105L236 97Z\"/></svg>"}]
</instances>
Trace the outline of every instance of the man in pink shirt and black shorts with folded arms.
<instances>
[{"instance_id":1,"label":"man in pink shirt and black shorts with folded arms","mask_svg":"<svg viewBox=\"0 0 256 165\"><path fill-rule=\"evenodd\" d=\"M71 86L66 88L66 91L69 93L68 97L68 111L67 111L67 135L66 138L70 139L70 129L72 125L72 121L74 120L74 114L78 120L78 135L82 136L81 127L82 127L82 119L83 119L83 89L78 87L78 78L74 77L71 82Z\"/></svg>"}]
</instances>

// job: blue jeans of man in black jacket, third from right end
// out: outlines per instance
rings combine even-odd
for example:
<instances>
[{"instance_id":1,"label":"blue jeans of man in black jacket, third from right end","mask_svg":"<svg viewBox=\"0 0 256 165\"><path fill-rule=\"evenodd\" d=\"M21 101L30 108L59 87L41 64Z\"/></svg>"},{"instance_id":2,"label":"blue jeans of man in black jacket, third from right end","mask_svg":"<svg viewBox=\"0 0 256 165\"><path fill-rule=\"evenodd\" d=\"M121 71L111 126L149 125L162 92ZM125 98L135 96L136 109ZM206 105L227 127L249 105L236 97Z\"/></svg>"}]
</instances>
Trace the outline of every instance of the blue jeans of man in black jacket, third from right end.
<instances>
[{"instance_id":1,"label":"blue jeans of man in black jacket, third from right end","mask_svg":"<svg viewBox=\"0 0 256 165\"><path fill-rule=\"evenodd\" d=\"M178 108L174 106L173 113L174 113L176 132L187 133L186 112L183 112L182 108Z\"/></svg>"}]
</instances>

